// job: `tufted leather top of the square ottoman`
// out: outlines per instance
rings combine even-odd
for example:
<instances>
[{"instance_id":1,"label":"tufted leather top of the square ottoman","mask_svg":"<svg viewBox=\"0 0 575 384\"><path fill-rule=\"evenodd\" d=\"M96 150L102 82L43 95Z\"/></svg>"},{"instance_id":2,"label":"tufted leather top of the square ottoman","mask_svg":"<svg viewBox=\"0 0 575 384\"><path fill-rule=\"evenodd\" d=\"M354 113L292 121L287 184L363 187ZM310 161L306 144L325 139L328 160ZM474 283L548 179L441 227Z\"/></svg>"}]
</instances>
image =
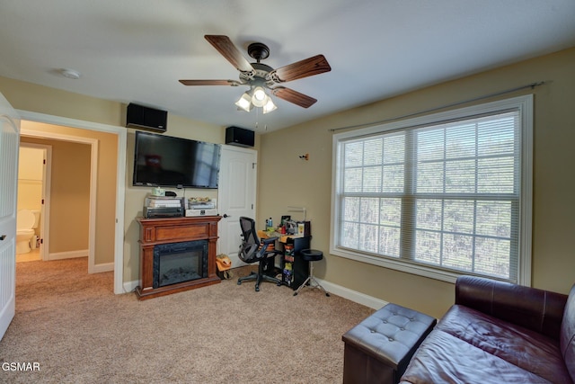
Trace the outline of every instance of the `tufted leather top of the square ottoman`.
<instances>
[{"instance_id":1,"label":"tufted leather top of the square ottoman","mask_svg":"<svg viewBox=\"0 0 575 384\"><path fill-rule=\"evenodd\" d=\"M437 319L396 304L387 304L342 336L367 355L403 371Z\"/></svg>"}]
</instances>

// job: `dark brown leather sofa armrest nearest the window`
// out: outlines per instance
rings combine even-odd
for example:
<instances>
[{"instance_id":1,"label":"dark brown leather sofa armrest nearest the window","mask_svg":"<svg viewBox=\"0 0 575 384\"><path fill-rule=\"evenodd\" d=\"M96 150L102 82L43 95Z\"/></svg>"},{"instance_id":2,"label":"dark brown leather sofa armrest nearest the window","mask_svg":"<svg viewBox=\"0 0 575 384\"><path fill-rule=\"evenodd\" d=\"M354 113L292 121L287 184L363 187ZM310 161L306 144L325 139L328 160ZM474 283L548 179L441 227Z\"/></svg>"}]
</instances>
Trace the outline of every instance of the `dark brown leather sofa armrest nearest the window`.
<instances>
[{"instance_id":1,"label":"dark brown leather sofa armrest nearest the window","mask_svg":"<svg viewBox=\"0 0 575 384\"><path fill-rule=\"evenodd\" d=\"M567 295L505 281L461 276L456 304L559 340Z\"/></svg>"}]
</instances>

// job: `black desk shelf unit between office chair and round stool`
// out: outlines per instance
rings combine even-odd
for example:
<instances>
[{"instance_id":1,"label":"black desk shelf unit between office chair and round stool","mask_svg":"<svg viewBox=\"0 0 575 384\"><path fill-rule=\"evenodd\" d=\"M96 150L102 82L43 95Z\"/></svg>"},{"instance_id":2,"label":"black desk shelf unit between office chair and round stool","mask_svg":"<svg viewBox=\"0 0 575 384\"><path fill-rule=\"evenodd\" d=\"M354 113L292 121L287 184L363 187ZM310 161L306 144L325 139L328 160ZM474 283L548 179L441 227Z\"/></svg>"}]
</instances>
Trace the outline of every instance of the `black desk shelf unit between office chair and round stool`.
<instances>
[{"instance_id":1,"label":"black desk shelf unit between office chair and round stool","mask_svg":"<svg viewBox=\"0 0 575 384\"><path fill-rule=\"evenodd\" d=\"M292 290L303 284L309 276L309 263L301 256L302 249L310 248L311 237L288 237L281 258L281 282Z\"/></svg>"}]
</instances>

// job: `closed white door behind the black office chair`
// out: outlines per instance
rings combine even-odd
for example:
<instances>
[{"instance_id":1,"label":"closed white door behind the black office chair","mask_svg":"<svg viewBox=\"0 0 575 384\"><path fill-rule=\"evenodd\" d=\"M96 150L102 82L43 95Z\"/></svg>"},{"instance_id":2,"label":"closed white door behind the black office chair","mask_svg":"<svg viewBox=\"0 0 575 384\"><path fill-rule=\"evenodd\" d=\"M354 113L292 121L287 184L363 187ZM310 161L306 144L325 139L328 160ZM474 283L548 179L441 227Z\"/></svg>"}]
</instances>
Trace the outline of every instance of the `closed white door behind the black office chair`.
<instances>
[{"instance_id":1,"label":"closed white door behind the black office chair","mask_svg":"<svg viewBox=\"0 0 575 384\"><path fill-rule=\"evenodd\" d=\"M237 256L242 243L240 216L255 219L257 152L253 149L222 146L217 205L222 219L218 224L218 253L226 254L232 267L245 265Z\"/></svg>"}]
</instances>

